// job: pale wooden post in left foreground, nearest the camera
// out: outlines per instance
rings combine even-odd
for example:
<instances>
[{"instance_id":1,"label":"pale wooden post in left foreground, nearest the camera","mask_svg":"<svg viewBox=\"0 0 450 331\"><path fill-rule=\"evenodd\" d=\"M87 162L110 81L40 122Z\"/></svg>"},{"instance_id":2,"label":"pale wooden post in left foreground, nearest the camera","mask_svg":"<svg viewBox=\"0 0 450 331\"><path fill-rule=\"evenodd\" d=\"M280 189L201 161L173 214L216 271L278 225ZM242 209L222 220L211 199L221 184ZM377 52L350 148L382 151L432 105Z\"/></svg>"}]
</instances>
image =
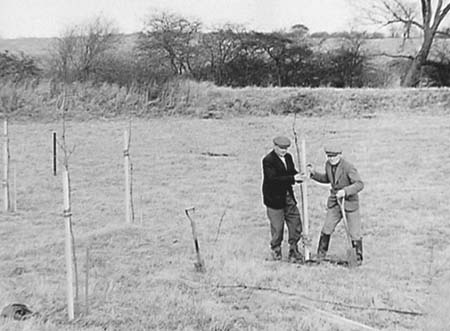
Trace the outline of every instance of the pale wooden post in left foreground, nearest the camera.
<instances>
[{"instance_id":1,"label":"pale wooden post in left foreground, nearest the camera","mask_svg":"<svg viewBox=\"0 0 450 331\"><path fill-rule=\"evenodd\" d=\"M73 246L72 246L72 212L70 206L70 179L66 167L62 171L63 193L64 193L64 222L65 222L65 255L67 272L67 313L69 321L74 319L73 300Z\"/></svg>"}]
</instances>

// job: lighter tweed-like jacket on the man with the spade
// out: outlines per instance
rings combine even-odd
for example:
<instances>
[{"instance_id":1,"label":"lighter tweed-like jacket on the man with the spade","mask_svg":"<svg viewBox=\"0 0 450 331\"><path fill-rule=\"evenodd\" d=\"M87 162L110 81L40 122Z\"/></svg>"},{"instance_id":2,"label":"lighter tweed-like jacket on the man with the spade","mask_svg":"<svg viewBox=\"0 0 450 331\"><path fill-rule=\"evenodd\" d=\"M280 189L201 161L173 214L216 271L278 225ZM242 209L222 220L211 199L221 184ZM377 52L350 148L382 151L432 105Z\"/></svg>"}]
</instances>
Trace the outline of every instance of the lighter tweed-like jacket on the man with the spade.
<instances>
[{"instance_id":1,"label":"lighter tweed-like jacket on the man with the spade","mask_svg":"<svg viewBox=\"0 0 450 331\"><path fill-rule=\"evenodd\" d=\"M345 191L345 210L353 211L359 208L358 192L364 188L364 183L358 174L358 170L350 162L343 158L339 161L336 174L333 178L330 162L325 163L325 173L316 172L312 179L320 183L330 183L330 196L327 207L332 208L337 205L336 192Z\"/></svg>"}]
</instances>

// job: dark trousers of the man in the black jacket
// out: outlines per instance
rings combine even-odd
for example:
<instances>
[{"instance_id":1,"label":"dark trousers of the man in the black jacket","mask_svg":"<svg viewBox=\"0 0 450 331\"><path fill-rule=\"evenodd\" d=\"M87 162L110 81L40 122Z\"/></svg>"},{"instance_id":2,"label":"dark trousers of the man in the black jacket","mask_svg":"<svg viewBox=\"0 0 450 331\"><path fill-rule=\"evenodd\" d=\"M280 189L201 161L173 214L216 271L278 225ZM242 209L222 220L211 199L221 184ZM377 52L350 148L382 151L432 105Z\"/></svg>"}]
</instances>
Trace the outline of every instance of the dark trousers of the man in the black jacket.
<instances>
[{"instance_id":1,"label":"dark trousers of the man in the black jacket","mask_svg":"<svg viewBox=\"0 0 450 331\"><path fill-rule=\"evenodd\" d=\"M298 243L302 235L302 222L297 205L289 194L286 196L286 206L283 209L267 207L267 217L270 221L272 235L270 247L272 249L279 247L283 241L284 222L286 222L288 228L288 243L290 245Z\"/></svg>"}]
</instances>

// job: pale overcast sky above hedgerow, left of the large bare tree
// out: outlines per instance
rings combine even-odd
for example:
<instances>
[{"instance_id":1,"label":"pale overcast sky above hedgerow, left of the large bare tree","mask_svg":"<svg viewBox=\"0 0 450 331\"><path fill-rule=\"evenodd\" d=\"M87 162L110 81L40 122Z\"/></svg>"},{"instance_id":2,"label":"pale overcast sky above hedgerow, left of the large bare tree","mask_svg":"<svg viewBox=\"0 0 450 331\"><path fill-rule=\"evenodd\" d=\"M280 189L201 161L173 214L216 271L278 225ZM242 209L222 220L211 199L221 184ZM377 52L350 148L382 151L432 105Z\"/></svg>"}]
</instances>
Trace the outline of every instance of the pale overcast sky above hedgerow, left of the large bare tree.
<instances>
[{"instance_id":1,"label":"pale overcast sky above hedgerow, left of the large bare tree","mask_svg":"<svg viewBox=\"0 0 450 331\"><path fill-rule=\"evenodd\" d=\"M54 37L101 15L120 32L140 31L152 10L199 19L206 26L244 24L257 31L304 24L311 32L352 27L347 0L0 0L0 37Z\"/></svg>"}]
</instances>

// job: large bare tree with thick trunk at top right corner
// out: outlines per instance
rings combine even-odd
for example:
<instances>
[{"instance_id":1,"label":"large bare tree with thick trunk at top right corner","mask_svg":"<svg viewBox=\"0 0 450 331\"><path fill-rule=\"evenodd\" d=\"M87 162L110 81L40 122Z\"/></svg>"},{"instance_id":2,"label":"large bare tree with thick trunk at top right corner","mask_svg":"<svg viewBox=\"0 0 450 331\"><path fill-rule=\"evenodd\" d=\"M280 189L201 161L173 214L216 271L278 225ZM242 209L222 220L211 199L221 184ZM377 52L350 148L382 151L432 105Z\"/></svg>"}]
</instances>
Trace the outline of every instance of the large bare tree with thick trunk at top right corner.
<instances>
[{"instance_id":1,"label":"large bare tree with thick trunk at top right corner","mask_svg":"<svg viewBox=\"0 0 450 331\"><path fill-rule=\"evenodd\" d=\"M423 32L419 50L415 54L407 56L411 60L411 64L402 81L402 86L417 86L420 82L421 68L430 55L435 37L437 35L449 36L448 31L442 28L442 23L450 11L450 1L373 0L370 6L359 7L365 11L372 22L382 23L386 26L403 26L404 38L409 37L412 27ZM421 16L421 19L416 19L418 16Z\"/></svg>"}]
</instances>

